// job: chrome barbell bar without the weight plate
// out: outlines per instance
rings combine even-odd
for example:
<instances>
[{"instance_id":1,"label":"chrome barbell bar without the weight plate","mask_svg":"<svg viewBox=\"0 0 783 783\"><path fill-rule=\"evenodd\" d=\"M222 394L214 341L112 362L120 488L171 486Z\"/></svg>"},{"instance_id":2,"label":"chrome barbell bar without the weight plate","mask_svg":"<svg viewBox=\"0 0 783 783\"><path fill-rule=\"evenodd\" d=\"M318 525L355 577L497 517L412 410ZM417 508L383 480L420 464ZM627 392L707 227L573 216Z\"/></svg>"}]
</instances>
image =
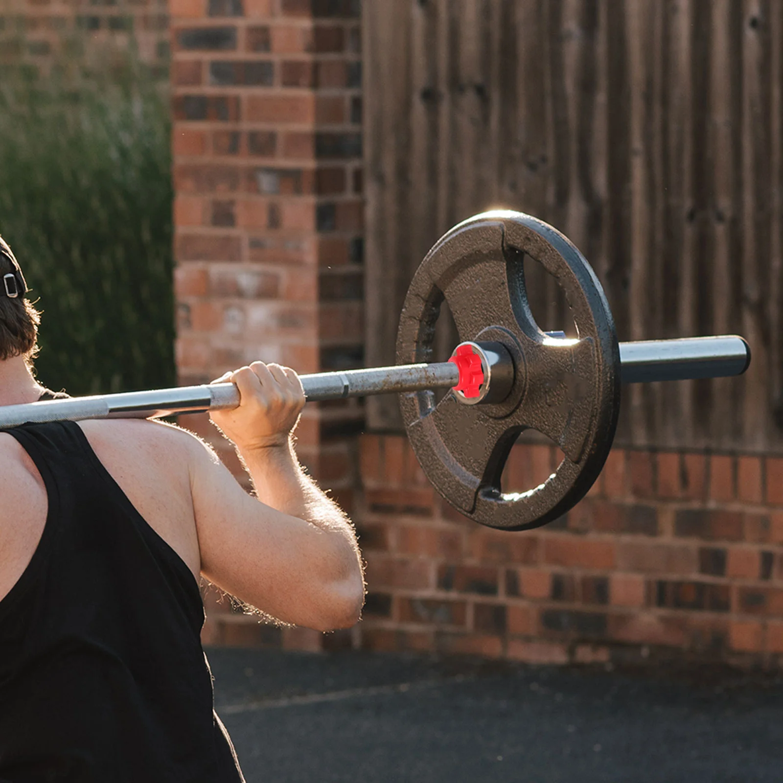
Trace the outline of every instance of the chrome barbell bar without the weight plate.
<instances>
[{"instance_id":1,"label":"chrome barbell bar without the weight plate","mask_svg":"<svg viewBox=\"0 0 783 783\"><path fill-rule=\"evenodd\" d=\"M561 333L550 333L550 345ZM570 341L569 341L570 342ZM742 337L686 337L619 344L622 383L684 381L740 375L750 363ZM308 401L363 397L399 391L453 388L460 371L450 362L372 367L300 376ZM234 384L202 384L151 391L74 397L0 407L0 428L46 421L160 418L229 410L240 402Z\"/></svg>"}]
</instances>

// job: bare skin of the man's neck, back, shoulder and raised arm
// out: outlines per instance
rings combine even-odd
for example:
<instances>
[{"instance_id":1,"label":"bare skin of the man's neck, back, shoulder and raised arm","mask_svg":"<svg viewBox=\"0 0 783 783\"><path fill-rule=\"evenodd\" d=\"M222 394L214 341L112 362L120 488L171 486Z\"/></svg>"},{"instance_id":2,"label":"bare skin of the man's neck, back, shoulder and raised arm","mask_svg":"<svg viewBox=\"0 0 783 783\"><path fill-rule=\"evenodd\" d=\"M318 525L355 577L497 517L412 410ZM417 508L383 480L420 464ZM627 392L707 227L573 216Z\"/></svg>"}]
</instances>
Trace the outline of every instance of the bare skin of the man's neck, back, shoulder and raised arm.
<instances>
[{"instance_id":1,"label":"bare skin of the man's neck, back, shoulder and raised arm","mask_svg":"<svg viewBox=\"0 0 783 783\"><path fill-rule=\"evenodd\" d=\"M147 523L193 572L282 622L352 626L364 584L345 514L305 476L290 432L305 403L296 373L257 362L233 381L240 407L212 413L247 465L249 496L199 438L146 420L79 424L99 460ZM42 388L21 356L0 361L0 405L34 402ZM47 496L18 442L0 434L0 601L43 532ZM111 524L106 520L106 524Z\"/></svg>"}]
</instances>

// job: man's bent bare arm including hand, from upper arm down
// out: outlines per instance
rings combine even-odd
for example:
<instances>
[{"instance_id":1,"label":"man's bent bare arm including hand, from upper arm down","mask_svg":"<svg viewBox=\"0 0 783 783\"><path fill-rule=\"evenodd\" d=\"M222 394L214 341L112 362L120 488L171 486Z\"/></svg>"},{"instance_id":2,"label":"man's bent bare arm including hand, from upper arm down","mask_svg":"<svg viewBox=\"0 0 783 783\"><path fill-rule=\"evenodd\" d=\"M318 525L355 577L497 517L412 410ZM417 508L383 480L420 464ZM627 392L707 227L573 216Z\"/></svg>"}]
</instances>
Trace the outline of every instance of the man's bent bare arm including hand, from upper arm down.
<instances>
[{"instance_id":1,"label":"man's bent bare arm including hand, from upper arm down","mask_svg":"<svg viewBox=\"0 0 783 783\"><path fill-rule=\"evenodd\" d=\"M258 499L200 442L192 448L201 571L269 615L330 630L359 619L364 585L355 532L305 475L291 442L304 405L293 370L258 362L220 379L240 390L236 410L212 419L233 441Z\"/></svg>"}]
</instances>

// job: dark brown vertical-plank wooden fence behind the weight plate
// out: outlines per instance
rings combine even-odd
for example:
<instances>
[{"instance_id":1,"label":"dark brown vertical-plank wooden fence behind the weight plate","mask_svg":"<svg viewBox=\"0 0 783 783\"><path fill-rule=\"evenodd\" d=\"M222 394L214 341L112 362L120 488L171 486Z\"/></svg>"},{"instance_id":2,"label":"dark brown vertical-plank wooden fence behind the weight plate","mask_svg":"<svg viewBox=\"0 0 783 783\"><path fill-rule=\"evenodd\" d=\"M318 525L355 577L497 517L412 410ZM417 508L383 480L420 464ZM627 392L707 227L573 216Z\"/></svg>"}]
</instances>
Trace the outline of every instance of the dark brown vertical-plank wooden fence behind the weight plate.
<instances>
[{"instance_id":1,"label":"dark brown vertical-plank wooden fence behind the weight plate","mask_svg":"<svg viewBox=\"0 0 783 783\"><path fill-rule=\"evenodd\" d=\"M368 363L438 236L514 208L583 251L621 340L751 343L740 380L626 388L620 443L783 451L783 3L369 0L363 27Z\"/></svg>"}]
</instances>

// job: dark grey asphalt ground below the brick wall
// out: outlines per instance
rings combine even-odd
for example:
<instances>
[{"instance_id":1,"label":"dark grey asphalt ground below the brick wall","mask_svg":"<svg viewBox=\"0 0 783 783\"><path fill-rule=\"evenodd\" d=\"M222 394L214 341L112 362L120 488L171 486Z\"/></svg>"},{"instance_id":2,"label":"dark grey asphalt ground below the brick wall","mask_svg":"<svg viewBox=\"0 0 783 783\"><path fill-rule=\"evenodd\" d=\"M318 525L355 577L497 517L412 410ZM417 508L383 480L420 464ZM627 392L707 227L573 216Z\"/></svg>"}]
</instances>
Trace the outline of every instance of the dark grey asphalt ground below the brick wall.
<instances>
[{"instance_id":1,"label":"dark grey asphalt ground below the brick wall","mask_svg":"<svg viewBox=\"0 0 783 783\"><path fill-rule=\"evenodd\" d=\"M247 783L781 783L783 680L207 651Z\"/></svg>"}]
</instances>

